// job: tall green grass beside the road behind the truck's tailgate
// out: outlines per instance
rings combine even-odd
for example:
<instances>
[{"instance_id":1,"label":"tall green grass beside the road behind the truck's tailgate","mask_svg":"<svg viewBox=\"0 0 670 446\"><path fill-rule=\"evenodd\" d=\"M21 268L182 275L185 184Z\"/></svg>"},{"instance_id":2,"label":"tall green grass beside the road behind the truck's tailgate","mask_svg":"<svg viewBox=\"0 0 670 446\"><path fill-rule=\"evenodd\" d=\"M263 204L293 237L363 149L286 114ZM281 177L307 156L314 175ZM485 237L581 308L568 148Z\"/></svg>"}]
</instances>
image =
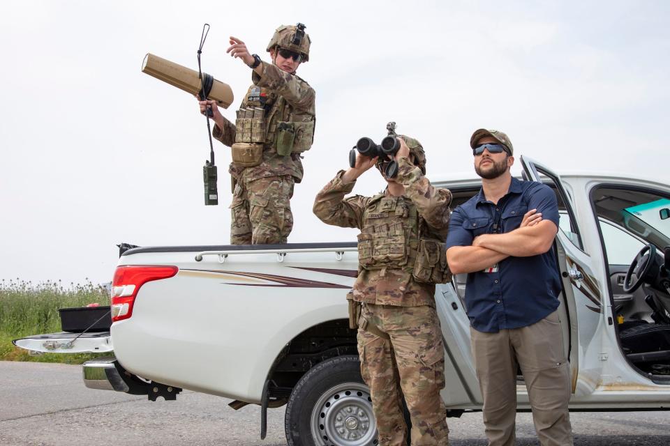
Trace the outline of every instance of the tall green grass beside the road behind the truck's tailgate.
<instances>
[{"instance_id":1,"label":"tall green grass beside the road behind the truck's tailgate","mask_svg":"<svg viewBox=\"0 0 670 446\"><path fill-rule=\"evenodd\" d=\"M33 284L20 279L0 279L0 360L81 364L102 356L101 353L33 356L12 344L13 339L31 334L60 332L59 308L85 307L94 302L109 305L110 298L107 290L91 282L66 286L60 281Z\"/></svg>"}]
</instances>

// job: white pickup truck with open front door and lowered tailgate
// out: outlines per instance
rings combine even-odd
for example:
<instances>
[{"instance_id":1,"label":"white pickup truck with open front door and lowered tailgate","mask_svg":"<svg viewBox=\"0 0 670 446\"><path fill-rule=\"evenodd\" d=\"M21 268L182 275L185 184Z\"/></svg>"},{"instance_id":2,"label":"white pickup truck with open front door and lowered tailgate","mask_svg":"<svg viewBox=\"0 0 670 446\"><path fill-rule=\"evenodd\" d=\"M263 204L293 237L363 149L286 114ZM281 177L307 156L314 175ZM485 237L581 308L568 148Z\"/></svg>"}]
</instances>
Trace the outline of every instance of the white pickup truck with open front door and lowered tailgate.
<instances>
[{"instance_id":1,"label":"white pickup truck with open front door and lowered tailgate","mask_svg":"<svg viewBox=\"0 0 670 446\"><path fill-rule=\"evenodd\" d=\"M521 157L523 177L556 192L560 312L571 410L670 408L670 186L622 176L565 175ZM442 180L452 207L479 181ZM525 210L524 210L525 212ZM505 216L503 215L503 218ZM373 445L375 420L359 373L345 294L355 243L138 247L119 259L109 332L15 341L33 351L114 351L84 364L96 389L174 399L181 389L265 413L288 403L290 445ZM438 285L449 415L479 410L465 277ZM73 339L75 339L73 341ZM528 410L517 385L519 410Z\"/></svg>"}]
</instances>

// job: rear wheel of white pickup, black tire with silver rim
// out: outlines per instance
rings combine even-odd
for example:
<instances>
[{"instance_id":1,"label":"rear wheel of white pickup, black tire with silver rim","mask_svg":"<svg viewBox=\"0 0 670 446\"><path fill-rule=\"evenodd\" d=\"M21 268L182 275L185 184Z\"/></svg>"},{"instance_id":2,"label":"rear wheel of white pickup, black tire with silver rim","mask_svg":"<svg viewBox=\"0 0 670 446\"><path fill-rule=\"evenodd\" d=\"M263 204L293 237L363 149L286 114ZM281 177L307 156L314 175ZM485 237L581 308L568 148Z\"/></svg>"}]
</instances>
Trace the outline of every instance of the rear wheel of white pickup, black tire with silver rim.
<instances>
[{"instance_id":1,"label":"rear wheel of white pickup, black tire with silver rim","mask_svg":"<svg viewBox=\"0 0 670 446\"><path fill-rule=\"evenodd\" d=\"M377 445L377 422L358 357L332 357L304 374L288 399L284 426L290 446Z\"/></svg>"}]
</instances>

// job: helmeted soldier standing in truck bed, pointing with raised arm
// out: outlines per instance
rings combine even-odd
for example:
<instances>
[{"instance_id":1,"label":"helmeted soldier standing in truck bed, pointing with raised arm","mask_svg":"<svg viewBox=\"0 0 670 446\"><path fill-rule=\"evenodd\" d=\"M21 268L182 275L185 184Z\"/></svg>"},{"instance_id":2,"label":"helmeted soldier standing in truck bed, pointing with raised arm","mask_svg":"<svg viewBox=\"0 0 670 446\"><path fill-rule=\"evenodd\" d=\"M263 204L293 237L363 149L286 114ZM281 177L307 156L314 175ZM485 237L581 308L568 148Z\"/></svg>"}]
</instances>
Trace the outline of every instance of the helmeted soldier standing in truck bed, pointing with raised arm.
<instances>
[{"instance_id":1,"label":"helmeted soldier standing in truck bed, pointing with raised arm","mask_svg":"<svg viewBox=\"0 0 670 446\"><path fill-rule=\"evenodd\" d=\"M293 228L290 198L303 175L301 153L313 141L315 91L295 75L309 59L304 25L280 26L267 51L272 63L249 54L244 42L230 38L228 53L252 68L253 84L235 123L224 118L213 100L200 101L200 112L213 112L212 134L232 147L234 190L230 243L286 243Z\"/></svg>"}]
</instances>

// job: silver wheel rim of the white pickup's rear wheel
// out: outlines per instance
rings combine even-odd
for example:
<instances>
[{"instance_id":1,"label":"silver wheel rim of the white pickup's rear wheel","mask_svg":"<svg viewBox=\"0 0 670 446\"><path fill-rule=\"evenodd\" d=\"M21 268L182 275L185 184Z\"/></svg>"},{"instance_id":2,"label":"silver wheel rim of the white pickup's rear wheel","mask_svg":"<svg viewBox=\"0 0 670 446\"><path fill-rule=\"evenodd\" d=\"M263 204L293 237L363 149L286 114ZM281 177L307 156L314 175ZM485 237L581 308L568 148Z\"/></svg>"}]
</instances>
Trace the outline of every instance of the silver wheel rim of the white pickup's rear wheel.
<instances>
[{"instance_id":1,"label":"silver wheel rim of the white pickup's rear wheel","mask_svg":"<svg viewBox=\"0 0 670 446\"><path fill-rule=\"evenodd\" d=\"M376 445L377 422L368 387L342 383L324 392L312 410L311 431L321 446Z\"/></svg>"}]
</instances>

